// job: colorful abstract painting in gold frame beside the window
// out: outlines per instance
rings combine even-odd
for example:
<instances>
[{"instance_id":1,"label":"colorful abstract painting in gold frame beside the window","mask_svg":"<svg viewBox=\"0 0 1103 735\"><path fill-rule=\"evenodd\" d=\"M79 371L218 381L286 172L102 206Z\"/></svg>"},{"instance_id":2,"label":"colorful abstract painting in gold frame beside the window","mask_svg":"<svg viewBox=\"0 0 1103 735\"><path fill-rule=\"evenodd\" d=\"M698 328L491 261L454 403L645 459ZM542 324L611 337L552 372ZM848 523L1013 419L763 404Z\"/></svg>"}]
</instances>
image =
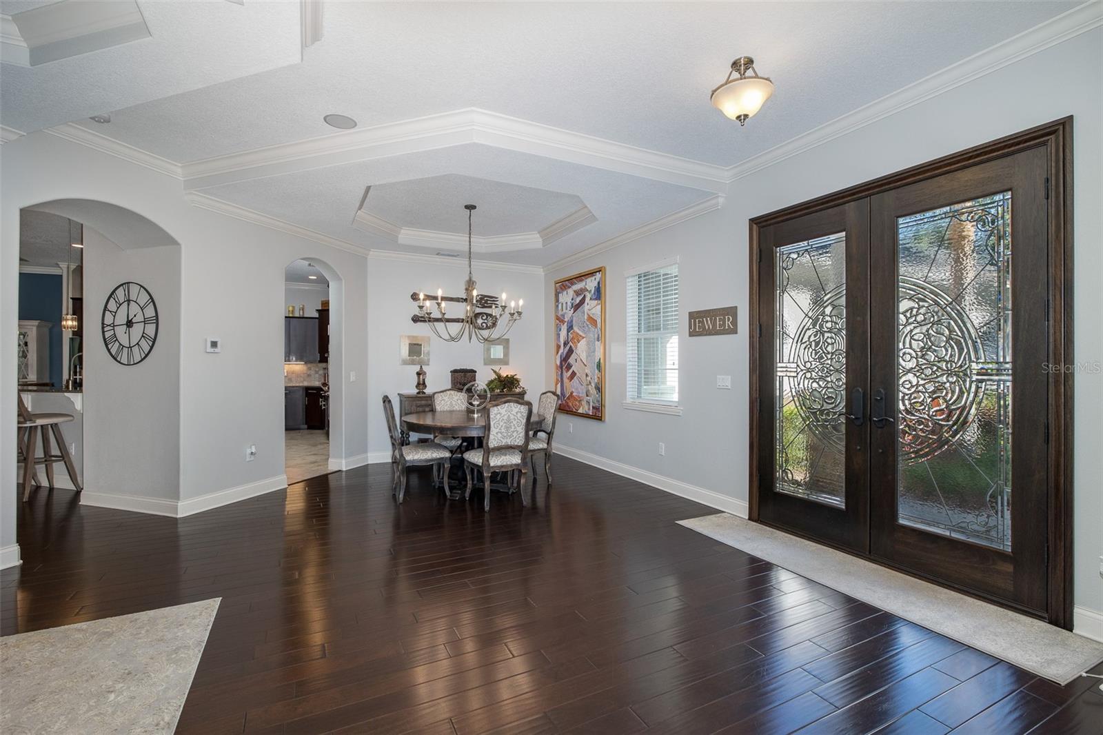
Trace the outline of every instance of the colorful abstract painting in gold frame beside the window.
<instances>
[{"instance_id":1,"label":"colorful abstract painting in gold frame beside the window","mask_svg":"<svg viewBox=\"0 0 1103 735\"><path fill-rule=\"evenodd\" d=\"M606 269L555 283L555 391L559 411L606 418Z\"/></svg>"}]
</instances>

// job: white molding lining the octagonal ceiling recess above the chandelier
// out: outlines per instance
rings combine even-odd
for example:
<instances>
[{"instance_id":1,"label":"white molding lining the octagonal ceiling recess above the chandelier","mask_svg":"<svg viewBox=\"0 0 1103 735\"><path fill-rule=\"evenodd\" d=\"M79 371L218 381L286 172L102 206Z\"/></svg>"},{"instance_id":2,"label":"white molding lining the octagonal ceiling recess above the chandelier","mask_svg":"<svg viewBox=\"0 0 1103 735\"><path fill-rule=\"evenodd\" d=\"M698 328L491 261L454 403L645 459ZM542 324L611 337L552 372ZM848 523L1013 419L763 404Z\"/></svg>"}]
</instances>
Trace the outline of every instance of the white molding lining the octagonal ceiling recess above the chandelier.
<instances>
[{"instance_id":1,"label":"white molding lining the octagonal ceiling recess above the chandelier","mask_svg":"<svg viewBox=\"0 0 1103 735\"><path fill-rule=\"evenodd\" d=\"M368 188L371 189L371 188ZM366 201L366 196L365 200ZM598 219L585 204L539 232L518 232L507 235L475 235L471 238L473 253L508 253L512 251L539 249L580 227L597 222ZM403 227L362 207L353 215L352 226L373 235L379 235L399 245L414 247L437 247L446 251L467 252L468 236L459 232L439 232ZM545 236L545 233L547 236Z\"/></svg>"}]
</instances>

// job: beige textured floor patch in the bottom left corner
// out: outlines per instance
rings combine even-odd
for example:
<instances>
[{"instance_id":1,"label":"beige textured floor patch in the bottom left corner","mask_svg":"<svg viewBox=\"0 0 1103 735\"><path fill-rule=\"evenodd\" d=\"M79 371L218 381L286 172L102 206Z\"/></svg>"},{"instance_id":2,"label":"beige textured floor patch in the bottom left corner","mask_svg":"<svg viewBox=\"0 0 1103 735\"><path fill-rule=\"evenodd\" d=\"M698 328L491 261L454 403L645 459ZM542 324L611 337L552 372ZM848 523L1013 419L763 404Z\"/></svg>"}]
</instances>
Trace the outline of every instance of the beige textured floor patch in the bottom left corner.
<instances>
[{"instance_id":1,"label":"beige textured floor patch in the bottom left corner","mask_svg":"<svg viewBox=\"0 0 1103 735\"><path fill-rule=\"evenodd\" d=\"M0 732L172 733L219 599L0 638Z\"/></svg>"}]
</instances>

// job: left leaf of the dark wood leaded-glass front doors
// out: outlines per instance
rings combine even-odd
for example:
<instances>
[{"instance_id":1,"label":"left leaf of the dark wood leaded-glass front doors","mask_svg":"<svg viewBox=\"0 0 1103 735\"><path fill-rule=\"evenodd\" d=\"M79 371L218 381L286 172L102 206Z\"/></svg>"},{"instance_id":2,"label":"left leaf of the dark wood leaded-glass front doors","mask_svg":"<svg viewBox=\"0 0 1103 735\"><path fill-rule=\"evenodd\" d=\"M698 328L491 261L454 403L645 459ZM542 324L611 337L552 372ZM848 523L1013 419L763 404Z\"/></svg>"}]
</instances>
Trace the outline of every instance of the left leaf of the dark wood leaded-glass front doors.
<instances>
[{"instance_id":1,"label":"left leaf of the dark wood leaded-glass front doors","mask_svg":"<svg viewBox=\"0 0 1103 735\"><path fill-rule=\"evenodd\" d=\"M759 516L868 551L868 201L760 233ZM848 288L859 284L859 289ZM767 387L769 386L769 387ZM858 418L852 418L857 416Z\"/></svg>"}]
</instances>

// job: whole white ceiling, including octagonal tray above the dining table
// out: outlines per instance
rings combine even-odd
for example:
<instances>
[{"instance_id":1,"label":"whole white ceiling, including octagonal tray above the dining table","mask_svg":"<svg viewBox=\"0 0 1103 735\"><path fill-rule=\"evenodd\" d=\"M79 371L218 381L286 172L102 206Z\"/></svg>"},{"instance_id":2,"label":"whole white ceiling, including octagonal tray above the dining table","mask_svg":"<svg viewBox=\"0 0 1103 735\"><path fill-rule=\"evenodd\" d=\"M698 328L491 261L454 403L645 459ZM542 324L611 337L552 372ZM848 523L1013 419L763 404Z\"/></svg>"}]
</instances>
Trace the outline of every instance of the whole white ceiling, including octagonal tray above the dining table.
<instances>
[{"instance_id":1,"label":"whole white ceiling, including octagonal tray above the dining table","mask_svg":"<svg viewBox=\"0 0 1103 735\"><path fill-rule=\"evenodd\" d=\"M536 266L686 207L707 209L726 191L722 167L1077 6L330 1L323 35L301 63L266 57L278 67L245 75L238 62L228 81L212 84L173 71L205 60L210 36L223 39L218 28L240 20L233 13L242 7L139 3L153 39L45 65L77 65L83 83L95 78L97 104L111 100L93 110L110 111L108 125L77 119L87 109L66 119L183 164L194 202L213 198L363 248L437 251L360 226L362 203L398 227L465 234L462 204L471 201L483 236L537 232L577 209L569 203L585 203L592 219L576 230L491 257ZM260 56L269 35L282 49L287 8L298 4L246 2L257 17L247 33L235 26L238 41ZM193 30L165 33L159 19L171 12ZM138 85L146 100L133 104L135 60L124 50L159 43L162 55L144 60ZM218 50L226 52L222 41ZM741 54L777 84L743 128L708 103ZM7 86L8 64L3 72ZM194 88L161 79L179 76ZM77 94L78 84L69 86ZM24 89L10 103L6 88L6 115L52 125L64 105L42 92L50 88ZM322 121L330 113L360 126L334 130Z\"/></svg>"}]
</instances>

